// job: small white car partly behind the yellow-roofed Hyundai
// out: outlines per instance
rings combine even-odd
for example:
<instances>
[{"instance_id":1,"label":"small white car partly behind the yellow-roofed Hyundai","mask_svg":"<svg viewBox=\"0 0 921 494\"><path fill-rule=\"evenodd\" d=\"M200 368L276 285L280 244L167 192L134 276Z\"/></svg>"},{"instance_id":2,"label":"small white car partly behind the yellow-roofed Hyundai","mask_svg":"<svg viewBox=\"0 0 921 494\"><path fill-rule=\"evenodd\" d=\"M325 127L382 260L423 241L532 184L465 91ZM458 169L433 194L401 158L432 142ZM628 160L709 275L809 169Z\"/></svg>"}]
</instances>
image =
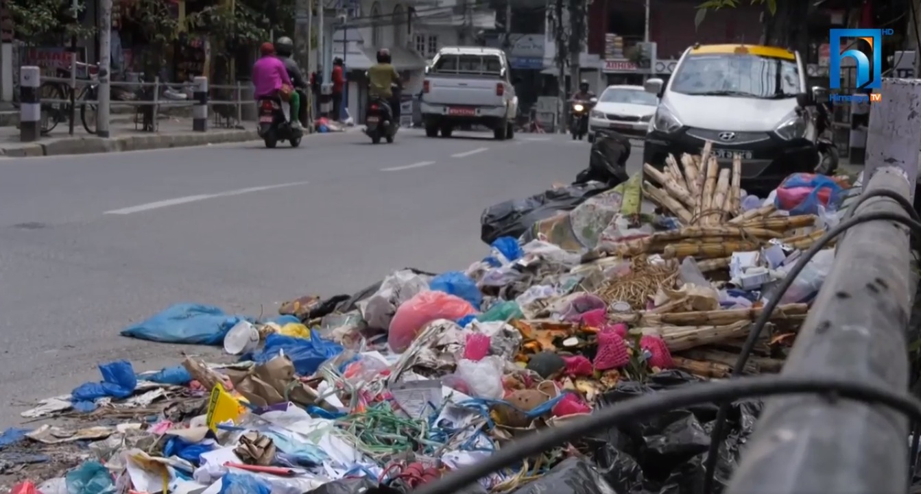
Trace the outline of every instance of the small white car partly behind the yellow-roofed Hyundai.
<instances>
[{"instance_id":1,"label":"small white car partly behind the yellow-roofed Hyundai","mask_svg":"<svg viewBox=\"0 0 921 494\"><path fill-rule=\"evenodd\" d=\"M589 143L599 129L645 137L658 106L659 98L647 93L643 86L608 86L589 113Z\"/></svg>"}]
</instances>

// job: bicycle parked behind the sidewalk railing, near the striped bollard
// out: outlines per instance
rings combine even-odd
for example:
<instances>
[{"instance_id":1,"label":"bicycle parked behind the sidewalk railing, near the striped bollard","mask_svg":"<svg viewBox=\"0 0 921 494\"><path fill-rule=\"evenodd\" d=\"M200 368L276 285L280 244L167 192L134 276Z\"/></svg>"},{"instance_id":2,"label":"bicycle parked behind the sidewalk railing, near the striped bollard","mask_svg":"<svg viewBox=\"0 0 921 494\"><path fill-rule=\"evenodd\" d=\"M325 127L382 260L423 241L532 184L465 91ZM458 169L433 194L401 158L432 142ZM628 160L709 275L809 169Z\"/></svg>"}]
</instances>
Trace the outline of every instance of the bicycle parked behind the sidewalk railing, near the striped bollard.
<instances>
[{"instance_id":1,"label":"bicycle parked behind the sidewalk railing, near the striped bollard","mask_svg":"<svg viewBox=\"0 0 921 494\"><path fill-rule=\"evenodd\" d=\"M87 72L86 77L77 76L78 81L88 81L88 84L76 89L79 91L74 98L75 104L80 105L80 121L83 122L83 128L88 133L96 133L96 103L89 101L97 100L97 88L99 87L99 65L96 63L76 63L77 70L83 68ZM57 76L60 78L70 78L70 70L57 69ZM59 81L46 81L39 87L41 98L41 133L47 134L52 132L57 124L70 118L70 95L71 87L67 83ZM63 100L67 103L58 101L44 103L46 99ZM79 103L77 103L79 102ZM87 115L89 118L87 119Z\"/></svg>"}]
</instances>

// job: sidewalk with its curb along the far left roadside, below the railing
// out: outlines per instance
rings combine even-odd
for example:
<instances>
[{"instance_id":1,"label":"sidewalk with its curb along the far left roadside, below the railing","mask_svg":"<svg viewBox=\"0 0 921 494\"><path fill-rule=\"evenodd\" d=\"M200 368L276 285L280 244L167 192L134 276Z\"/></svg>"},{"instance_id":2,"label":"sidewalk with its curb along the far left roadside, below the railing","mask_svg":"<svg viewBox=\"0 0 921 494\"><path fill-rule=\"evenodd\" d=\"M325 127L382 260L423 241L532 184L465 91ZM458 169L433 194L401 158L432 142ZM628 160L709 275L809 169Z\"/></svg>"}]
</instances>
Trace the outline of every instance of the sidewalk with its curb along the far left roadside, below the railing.
<instances>
[{"instance_id":1,"label":"sidewalk with its curb along the far left roadside, below the railing","mask_svg":"<svg viewBox=\"0 0 921 494\"><path fill-rule=\"evenodd\" d=\"M209 125L214 120L209 119ZM253 122L244 122L245 130L213 128L208 132L192 132L192 119L169 118L159 121L158 132L135 130L130 119L113 118L111 137L101 139L87 133L83 124L76 122L74 136L67 134L68 123L61 122L47 136L33 143L19 141L16 127L0 127L0 155L11 157L86 155L90 153L118 153L167 147L187 147L203 144L237 143L259 138Z\"/></svg>"}]
</instances>

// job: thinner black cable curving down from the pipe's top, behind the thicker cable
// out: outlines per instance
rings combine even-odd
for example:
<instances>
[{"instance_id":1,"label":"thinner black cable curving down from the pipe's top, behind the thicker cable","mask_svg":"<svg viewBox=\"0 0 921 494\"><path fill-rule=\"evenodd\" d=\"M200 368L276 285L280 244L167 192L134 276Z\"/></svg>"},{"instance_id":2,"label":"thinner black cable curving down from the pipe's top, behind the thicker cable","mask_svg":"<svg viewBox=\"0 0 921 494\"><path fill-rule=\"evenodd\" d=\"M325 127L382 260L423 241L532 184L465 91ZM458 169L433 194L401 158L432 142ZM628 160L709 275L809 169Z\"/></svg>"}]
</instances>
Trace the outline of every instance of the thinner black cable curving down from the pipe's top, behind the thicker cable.
<instances>
[{"instance_id":1,"label":"thinner black cable curving down from the pipe's top, behind the thicker cable","mask_svg":"<svg viewBox=\"0 0 921 494\"><path fill-rule=\"evenodd\" d=\"M863 213L857 217L848 218L845 221L835 225L834 228L826 232L825 235L819 239L819 241L813 244L812 247L810 247L810 249L807 250L806 253L797 260L797 263L793 266L793 269L789 270L789 272L787 272L787 276L784 277L784 280L780 282L780 285L777 288L774 296L772 296L771 299L767 301L767 304L764 304L761 314L758 315L758 318L755 319L755 322L752 325L748 339L746 339L745 344L742 345L742 350L739 353L736 364L732 368L732 377L738 377L742 373L742 370L745 368L745 364L748 362L749 357L752 355L752 350L754 350L755 343L757 343L762 331L764 330L764 327L767 325L768 319L771 318L775 308L778 304L780 304L781 297L784 293L787 293L787 290L789 290L790 286L793 285L793 281L796 281L799 273L806 268L806 265L809 264L809 261L814 258L820 250L825 248L829 242L834 240L834 238L837 236L843 234L849 228L856 226L857 224L864 224L880 220L889 220L904 224L912 230L912 233L915 234L915 236L921 236L921 223L915 221L914 219L908 218L904 213L890 213L885 211ZM723 404L719 407L719 411L717 412L717 422L714 424L713 434L710 436L710 448L707 451L707 458L705 463L705 494L713 492L713 477L717 468L719 444L722 441L723 432L726 429L726 420L728 418L729 404Z\"/></svg>"}]
</instances>

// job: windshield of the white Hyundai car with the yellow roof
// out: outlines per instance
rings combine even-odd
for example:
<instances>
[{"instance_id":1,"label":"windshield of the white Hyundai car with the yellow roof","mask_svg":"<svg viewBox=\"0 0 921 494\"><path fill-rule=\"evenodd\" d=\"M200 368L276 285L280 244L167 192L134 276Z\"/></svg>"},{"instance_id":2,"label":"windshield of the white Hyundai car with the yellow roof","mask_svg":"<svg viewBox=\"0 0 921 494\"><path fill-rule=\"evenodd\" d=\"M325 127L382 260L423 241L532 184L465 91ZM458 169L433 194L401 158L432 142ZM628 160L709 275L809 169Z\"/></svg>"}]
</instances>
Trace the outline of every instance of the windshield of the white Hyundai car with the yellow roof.
<instances>
[{"instance_id":1,"label":"windshield of the white Hyundai car with the yellow roof","mask_svg":"<svg viewBox=\"0 0 921 494\"><path fill-rule=\"evenodd\" d=\"M794 98L800 92L796 61L752 54L689 55L670 90L685 95Z\"/></svg>"}]
</instances>

